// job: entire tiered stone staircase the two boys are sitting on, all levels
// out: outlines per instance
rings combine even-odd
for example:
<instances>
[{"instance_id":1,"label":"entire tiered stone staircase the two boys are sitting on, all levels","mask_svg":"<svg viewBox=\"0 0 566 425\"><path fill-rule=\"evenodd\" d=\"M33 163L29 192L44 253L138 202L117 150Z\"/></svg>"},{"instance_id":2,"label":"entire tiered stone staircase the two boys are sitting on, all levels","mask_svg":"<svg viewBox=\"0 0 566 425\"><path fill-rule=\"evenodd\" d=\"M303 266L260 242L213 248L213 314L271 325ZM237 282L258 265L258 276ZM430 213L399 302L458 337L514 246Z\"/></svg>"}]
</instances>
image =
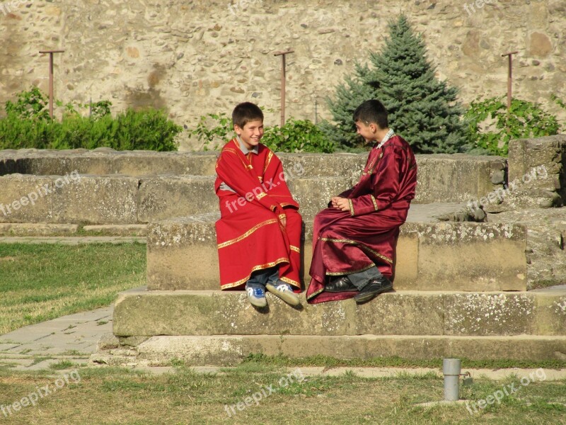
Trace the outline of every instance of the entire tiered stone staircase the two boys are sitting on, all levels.
<instances>
[{"instance_id":1,"label":"entire tiered stone staircase the two boys are sitting on, all levels","mask_svg":"<svg viewBox=\"0 0 566 425\"><path fill-rule=\"evenodd\" d=\"M537 268L548 246L533 256L530 222L489 220L509 216L521 203L544 217L538 207L566 198L566 136L543 139L519 141L510 148L509 164L499 157L418 156L417 198L400 232L395 292L364 305L308 305L303 293L301 307L292 308L267 294L268 307L257 310L243 291L219 290L215 154L6 151L0 157L3 200L43 184L54 193L9 217L0 214L0 221L147 225L147 287L117 297L114 337L98 354L115 363L180 358L233 364L250 353L564 360L566 286L533 288L564 284L566 276L560 268L550 274ZM308 284L313 216L357 181L366 155L281 157L304 217L301 276ZM542 165L533 157L548 165L544 179L537 176L503 202L487 198L504 190L506 176L520 178L517 170ZM57 179L74 170L81 180L57 187ZM536 199L524 200L532 191ZM470 200L488 204L488 222L465 221L479 217L467 208ZM566 262L562 223L548 227L556 263Z\"/></svg>"}]
</instances>

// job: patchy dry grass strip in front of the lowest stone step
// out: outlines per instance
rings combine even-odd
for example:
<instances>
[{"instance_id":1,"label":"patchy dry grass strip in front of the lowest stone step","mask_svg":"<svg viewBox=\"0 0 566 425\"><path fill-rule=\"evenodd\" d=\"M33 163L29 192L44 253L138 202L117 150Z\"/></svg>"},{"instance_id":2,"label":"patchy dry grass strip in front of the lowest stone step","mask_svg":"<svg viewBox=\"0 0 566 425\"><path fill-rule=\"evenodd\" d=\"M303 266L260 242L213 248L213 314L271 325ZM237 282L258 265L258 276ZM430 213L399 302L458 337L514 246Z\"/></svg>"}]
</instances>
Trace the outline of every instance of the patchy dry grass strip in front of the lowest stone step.
<instances>
[{"instance_id":1,"label":"patchy dry grass strip in front of the lowest stone step","mask_svg":"<svg viewBox=\"0 0 566 425\"><path fill-rule=\"evenodd\" d=\"M14 373L0 369L0 412L10 424L566 424L566 382L476 379L461 397L476 403L504 385L519 389L485 409L466 404L420 406L443 397L442 379L306 376L284 369L243 363L222 373L146 375L123 368L79 368ZM59 381L57 381L59 379ZM49 385L56 391L18 412L6 406ZM45 390L42 391L45 393ZM257 404L254 401L257 400ZM246 405L246 402L248 405ZM24 402L25 403L25 402ZM238 404L240 403L240 404ZM19 407L19 406L17 406ZM239 407L239 409L238 409Z\"/></svg>"}]
</instances>

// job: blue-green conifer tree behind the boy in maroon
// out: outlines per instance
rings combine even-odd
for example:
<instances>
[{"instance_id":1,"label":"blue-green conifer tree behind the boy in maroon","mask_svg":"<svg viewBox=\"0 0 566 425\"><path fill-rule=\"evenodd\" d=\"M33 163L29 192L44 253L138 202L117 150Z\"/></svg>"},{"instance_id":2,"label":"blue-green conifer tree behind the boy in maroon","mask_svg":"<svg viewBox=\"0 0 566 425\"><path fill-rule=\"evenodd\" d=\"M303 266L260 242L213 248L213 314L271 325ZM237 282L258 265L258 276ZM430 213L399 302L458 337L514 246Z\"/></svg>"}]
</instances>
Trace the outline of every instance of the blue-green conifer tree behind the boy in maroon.
<instances>
[{"instance_id":1,"label":"blue-green conifer tree behind the boy in maroon","mask_svg":"<svg viewBox=\"0 0 566 425\"><path fill-rule=\"evenodd\" d=\"M352 113L362 101L379 99L389 113L391 128L405 137L415 153L460 152L466 143L463 109L457 89L434 77L422 37L413 33L405 16L391 21L389 37L380 53L370 55L371 67L356 66L354 77L337 87L329 108L340 143L354 146Z\"/></svg>"}]
</instances>

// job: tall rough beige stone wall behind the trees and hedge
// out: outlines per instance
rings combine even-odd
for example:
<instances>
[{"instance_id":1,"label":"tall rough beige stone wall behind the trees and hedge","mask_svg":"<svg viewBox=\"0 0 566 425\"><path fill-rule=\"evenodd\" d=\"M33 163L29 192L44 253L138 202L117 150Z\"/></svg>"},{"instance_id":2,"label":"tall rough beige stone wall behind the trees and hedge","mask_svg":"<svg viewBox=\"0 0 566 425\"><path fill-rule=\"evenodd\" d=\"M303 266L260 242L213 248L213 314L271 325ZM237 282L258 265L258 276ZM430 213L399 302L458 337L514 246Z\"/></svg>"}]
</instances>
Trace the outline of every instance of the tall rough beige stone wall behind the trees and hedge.
<instances>
[{"instance_id":1,"label":"tall rough beige stone wall behind the trees and hedge","mask_svg":"<svg viewBox=\"0 0 566 425\"><path fill-rule=\"evenodd\" d=\"M287 60L287 115L328 118L324 99L379 50L388 18L408 15L424 35L437 76L478 95L504 95L507 59L514 93L558 113L550 95L566 98L566 4L563 0L8 0L0 3L0 101L31 84L47 91L39 50L55 58L55 91L63 101L109 99L167 108L192 127L204 113L229 113L251 100L279 123L279 50ZM478 5L481 5L478 7ZM394 125L394 123L393 123ZM185 145L185 148L188 146ZM192 145L192 147L198 147Z\"/></svg>"}]
</instances>

